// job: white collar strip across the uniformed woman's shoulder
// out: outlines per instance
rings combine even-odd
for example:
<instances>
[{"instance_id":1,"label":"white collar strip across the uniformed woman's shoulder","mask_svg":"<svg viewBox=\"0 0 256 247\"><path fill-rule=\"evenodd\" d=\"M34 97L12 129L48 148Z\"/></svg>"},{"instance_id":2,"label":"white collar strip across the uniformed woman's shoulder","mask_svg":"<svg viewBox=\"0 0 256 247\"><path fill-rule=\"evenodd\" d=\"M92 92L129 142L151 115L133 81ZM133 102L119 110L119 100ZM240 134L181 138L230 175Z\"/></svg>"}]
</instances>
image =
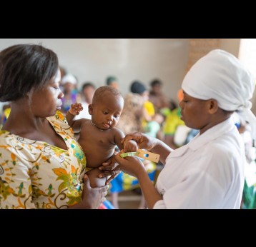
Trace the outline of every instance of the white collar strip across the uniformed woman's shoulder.
<instances>
[{"instance_id":1,"label":"white collar strip across the uniformed woman's shoulder","mask_svg":"<svg viewBox=\"0 0 256 247\"><path fill-rule=\"evenodd\" d=\"M198 133L197 136L195 136L195 138L192 139L192 141L187 143L187 145L184 145L181 148L177 148L174 151L172 151L170 156L182 156L183 153L185 153L188 148L190 148L192 151L196 151L198 148L205 146L206 143L218 138L219 136L222 136L224 133L232 131L234 128L236 128L236 126L232 119L229 118L223 121L222 123L217 124L212 128L209 128L202 135Z\"/></svg>"}]
</instances>

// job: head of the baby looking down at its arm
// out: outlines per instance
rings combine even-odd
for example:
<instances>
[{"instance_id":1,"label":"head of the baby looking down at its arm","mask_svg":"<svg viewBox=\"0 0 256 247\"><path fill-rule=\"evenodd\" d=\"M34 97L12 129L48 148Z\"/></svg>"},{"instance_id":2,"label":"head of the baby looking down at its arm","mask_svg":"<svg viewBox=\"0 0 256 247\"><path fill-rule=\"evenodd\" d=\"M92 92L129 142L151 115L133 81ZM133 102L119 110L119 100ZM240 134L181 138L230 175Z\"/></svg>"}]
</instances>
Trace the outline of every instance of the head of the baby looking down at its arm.
<instances>
[{"instance_id":1,"label":"head of the baby looking down at its arm","mask_svg":"<svg viewBox=\"0 0 256 247\"><path fill-rule=\"evenodd\" d=\"M89 105L92 123L100 130L114 128L119 121L124 108L122 94L112 86L99 87Z\"/></svg>"}]
</instances>

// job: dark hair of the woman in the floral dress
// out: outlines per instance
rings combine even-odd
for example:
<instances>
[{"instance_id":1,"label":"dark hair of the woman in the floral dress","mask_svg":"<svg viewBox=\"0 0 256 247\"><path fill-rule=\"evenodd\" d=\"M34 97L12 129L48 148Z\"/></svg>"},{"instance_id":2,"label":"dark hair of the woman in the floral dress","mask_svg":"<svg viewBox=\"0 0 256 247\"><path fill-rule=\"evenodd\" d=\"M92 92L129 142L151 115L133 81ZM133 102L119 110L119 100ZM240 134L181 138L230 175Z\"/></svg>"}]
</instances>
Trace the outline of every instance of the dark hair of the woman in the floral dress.
<instances>
[{"instance_id":1,"label":"dark hair of the woman in the floral dress","mask_svg":"<svg viewBox=\"0 0 256 247\"><path fill-rule=\"evenodd\" d=\"M0 52L0 101L16 101L31 89L49 83L58 70L58 57L35 44L18 44Z\"/></svg>"}]
</instances>

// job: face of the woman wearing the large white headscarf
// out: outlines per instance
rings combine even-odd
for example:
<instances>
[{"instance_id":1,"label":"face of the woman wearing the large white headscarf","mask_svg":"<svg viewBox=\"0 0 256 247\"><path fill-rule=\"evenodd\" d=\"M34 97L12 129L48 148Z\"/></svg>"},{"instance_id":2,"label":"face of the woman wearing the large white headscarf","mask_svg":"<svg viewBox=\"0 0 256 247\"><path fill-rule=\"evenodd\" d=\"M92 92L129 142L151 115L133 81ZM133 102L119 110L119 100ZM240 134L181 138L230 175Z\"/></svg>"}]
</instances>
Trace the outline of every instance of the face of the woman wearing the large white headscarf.
<instances>
[{"instance_id":1,"label":"face of the woman wearing the large white headscarf","mask_svg":"<svg viewBox=\"0 0 256 247\"><path fill-rule=\"evenodd\" d=\"M196 99L184 92L184 98L179 102L182 117L187 127L207 130L210 124L210 114L208 113L207 100ZM201 132L201 131L200 131Z\"/></svg>"}]
</instances>

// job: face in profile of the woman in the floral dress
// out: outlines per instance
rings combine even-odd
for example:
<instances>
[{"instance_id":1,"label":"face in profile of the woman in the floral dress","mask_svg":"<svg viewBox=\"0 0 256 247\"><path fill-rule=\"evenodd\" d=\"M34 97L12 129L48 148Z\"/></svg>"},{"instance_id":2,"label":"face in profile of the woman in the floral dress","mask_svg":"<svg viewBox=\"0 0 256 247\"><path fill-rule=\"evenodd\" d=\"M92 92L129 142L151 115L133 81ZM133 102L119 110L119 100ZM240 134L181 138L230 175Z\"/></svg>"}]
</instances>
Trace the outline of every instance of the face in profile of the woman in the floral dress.
<instances>
[{"instance_id":1,"label":"face in profile of the woman in the floral dress","mask_svg":"<svg viewBox=\"0 0 256 247\"><path fill-rule=\"evenodd\" d=\"M31 109L35 116L48 117L54 116L56 109L61 108L61 98L64 94L59 89L60 70L58 69L56 76L54 76L49 84L46 84L43 89L34 91L31 96Z\"/></svg>"}]
</instances>

